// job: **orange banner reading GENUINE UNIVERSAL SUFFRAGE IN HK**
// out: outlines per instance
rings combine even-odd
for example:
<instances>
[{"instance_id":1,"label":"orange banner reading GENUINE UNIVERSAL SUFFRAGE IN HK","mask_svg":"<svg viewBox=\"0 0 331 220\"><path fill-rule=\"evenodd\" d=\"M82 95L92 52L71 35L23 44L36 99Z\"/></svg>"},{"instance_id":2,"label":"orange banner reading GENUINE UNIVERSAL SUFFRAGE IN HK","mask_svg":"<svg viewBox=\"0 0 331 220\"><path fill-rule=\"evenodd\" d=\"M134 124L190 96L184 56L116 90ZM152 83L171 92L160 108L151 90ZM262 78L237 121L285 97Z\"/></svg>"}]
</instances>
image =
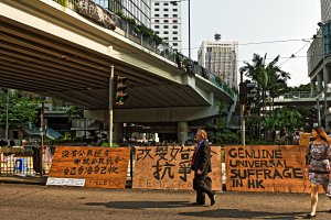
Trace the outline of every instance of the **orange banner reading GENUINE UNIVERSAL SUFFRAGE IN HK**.
<instances>
[{"instance_id":1,"label":"orange banner reading GENUINE UNIVERSAL SUFFRAGE IN HK","mask_svg":"<svg viewBox=\"0 0 331 220\"><path fill-rule=\"evenodd\" d=\"M226 146L226 190L308 193L303 145Z\"/></svg>"}]
</instances>

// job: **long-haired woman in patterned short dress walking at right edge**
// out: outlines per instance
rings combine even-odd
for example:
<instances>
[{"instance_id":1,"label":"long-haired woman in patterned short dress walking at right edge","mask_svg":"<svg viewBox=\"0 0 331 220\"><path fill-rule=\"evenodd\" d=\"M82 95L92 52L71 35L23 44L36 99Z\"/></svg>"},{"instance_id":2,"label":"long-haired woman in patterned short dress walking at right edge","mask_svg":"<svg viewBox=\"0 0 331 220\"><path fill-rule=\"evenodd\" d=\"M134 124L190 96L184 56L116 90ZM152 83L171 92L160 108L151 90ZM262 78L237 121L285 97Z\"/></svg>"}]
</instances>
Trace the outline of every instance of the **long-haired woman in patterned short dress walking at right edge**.
<instances>
[{"instance_id":1,"label":"long-haired woman in patterned short dress walking at right edge","mask_svg":"<svg viewBox=\"0 0 331 220\"><path fill-rule=\"evenodd\" d=\"M309 219L316 217L318 191L321 185L328 191L330 182L331 146L330 139L321 127L312 129L313 141L310 142L306 153L306 173L309 173L311 210ZM331 198L331 197L329 197ZM331 210L330 210L331 212Z\"/></svg>"}]
</instances>

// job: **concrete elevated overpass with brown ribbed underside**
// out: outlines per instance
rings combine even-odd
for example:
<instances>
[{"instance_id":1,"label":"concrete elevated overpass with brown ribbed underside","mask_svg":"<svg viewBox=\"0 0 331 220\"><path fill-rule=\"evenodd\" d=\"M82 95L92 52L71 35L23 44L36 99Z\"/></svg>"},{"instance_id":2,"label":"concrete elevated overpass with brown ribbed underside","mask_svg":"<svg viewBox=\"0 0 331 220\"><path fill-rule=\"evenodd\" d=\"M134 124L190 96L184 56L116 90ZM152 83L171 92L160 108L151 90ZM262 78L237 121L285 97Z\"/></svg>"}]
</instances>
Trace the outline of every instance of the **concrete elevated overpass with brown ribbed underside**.
<instances>
[{"instance_id":1,"label":"concrete elevated overpass with brown ribbed underside","mask_svg":"<svg viewBox=\"0 0 331 220\"><path fill-rule=\"evenodd\" d=\"M217 116L218 102L235 109L237 94L212 73L83 4L89 1L76 2L0 0L0 87L62 99L105 120L114 67L129 86L115 122L188 122Z\"/></svg>"}]
</instances>

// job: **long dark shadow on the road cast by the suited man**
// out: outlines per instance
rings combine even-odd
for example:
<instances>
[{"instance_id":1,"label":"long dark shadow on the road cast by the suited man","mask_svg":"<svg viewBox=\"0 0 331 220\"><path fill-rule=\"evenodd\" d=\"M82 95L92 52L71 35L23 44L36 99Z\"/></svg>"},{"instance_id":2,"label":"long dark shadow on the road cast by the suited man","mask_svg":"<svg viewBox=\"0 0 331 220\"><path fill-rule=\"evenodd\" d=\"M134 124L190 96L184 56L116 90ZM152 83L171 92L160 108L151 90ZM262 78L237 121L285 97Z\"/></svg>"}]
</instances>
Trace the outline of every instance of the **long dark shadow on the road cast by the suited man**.
<instances>
[{"instance_id":1,"label":"long dark shadow on the road cast by the suited man","mask_svg":"<svg viewBox=\"0 0 331 220\"><path fill-rule=\"evenodd\" d=\"M189 201L109 201L109 202L87 202L86 206L105 206L113 209L169 209L181 207L193 207Z\"/></svg>"}]
</instances>

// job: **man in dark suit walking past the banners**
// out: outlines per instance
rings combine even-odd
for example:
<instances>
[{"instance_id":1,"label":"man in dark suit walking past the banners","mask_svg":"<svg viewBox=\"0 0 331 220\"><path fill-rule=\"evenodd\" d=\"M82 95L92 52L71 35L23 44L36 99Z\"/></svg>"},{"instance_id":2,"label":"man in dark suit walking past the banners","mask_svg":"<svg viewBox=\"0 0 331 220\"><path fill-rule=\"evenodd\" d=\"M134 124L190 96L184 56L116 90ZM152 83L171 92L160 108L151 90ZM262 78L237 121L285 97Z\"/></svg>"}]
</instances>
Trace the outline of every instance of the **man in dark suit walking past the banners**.
<instances>
[{"instance_id":1,"label":"man in dark suit walking past the banners","mask_svg":"<svg viewBox=\"0 0 331 220\"><path fill-rule=\"evenodd\" d=\"M205 204L205 194L211 199L211 206L215 200L215 193L211 190L212 179L207 176L212 172L211 146L207 142L207 133L204 130L196 132L196 150L192 156L192 170L194 170L193 188L196 191L196 202L194 205Z\"/></svg>"}]
</instances>

